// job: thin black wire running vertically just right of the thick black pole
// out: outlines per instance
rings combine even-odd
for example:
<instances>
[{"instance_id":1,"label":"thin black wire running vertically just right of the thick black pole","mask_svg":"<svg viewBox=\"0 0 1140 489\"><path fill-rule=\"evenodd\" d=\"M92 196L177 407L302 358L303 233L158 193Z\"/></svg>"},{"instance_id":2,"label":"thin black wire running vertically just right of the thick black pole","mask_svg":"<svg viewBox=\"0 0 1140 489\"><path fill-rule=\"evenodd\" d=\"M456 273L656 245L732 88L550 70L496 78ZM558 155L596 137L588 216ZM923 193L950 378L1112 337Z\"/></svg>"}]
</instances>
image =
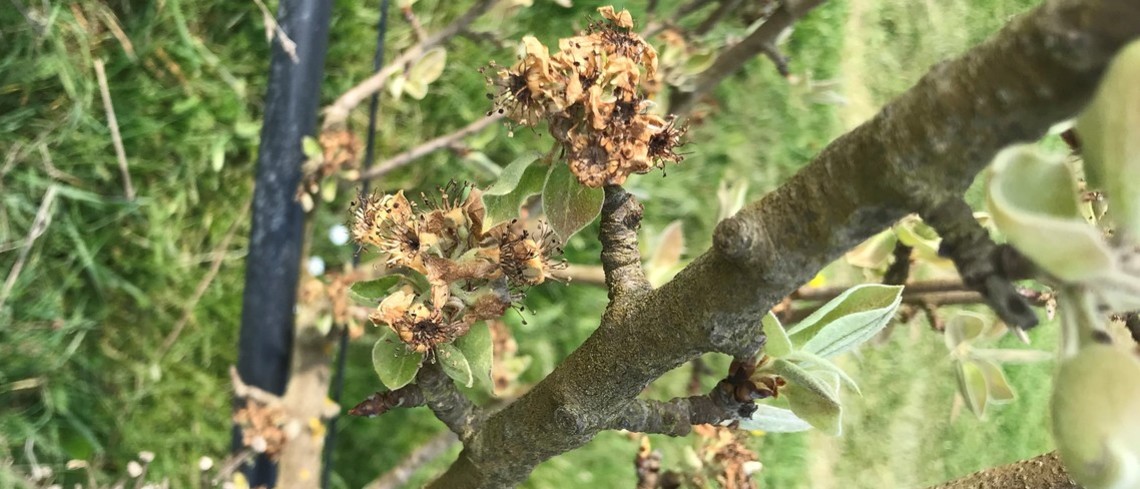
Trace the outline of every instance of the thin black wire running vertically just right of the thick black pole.
<instances>
[{"instance_id":1,"label":"thin black wire running vertically just right of the thick black pole","mask_svg":"<svg viewBox=\"0 0 1140 489\"><path fill-rule=\"evenodd\" d=\"M376 51L372 57L372 71L378 72L384 66L384 38L388 35L388 0L380 1L380 25L376 26ZM380 92L372 95L368 103L368 138L364 149L364 168L372 168L376 148L376 114L380 111ZM368 180L360 184L360 195L368 195ZM352 267L360 264L360 250L352 255ZM333 377L333 401L340 402L344 393L344 368L349 357L348 325L341 325L341 339L336 356L336 376ZM320 467L320 487L328 489L333 473L333 449L336 448L336 422L340 416L328 421L328 434L325 437L324 464Z\"/></svg>"}]
</instances>

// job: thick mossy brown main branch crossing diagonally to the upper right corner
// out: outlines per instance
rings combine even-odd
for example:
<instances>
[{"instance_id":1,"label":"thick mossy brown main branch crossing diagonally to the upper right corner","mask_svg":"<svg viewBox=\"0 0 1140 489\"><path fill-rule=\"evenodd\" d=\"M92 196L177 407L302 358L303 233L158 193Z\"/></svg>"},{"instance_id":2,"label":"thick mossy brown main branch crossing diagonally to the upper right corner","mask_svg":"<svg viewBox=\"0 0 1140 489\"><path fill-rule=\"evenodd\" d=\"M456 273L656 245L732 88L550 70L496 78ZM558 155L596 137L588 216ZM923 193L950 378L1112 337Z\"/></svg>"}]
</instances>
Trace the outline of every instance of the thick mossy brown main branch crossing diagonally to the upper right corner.
<instances>
[{"instance_id":1,"label":"thick mossy brown main branch crossing diagonally to the upper right corner","mask_svg":"<svg viewBox=\"0 0 1140 489\"><path fill-rule=\"evenodd\" d=\"M899 218L960 198L1001 148L1074 116L1110 57L1138 35L1134 0L1051 1L934 66L782 187L723 221L714 247L673 282L614 301L577 351L466 440L434 486L516 484L610 427L669 369L708 351L755 353L760 318L777 301Z\"/></svg>"}]
</instances>

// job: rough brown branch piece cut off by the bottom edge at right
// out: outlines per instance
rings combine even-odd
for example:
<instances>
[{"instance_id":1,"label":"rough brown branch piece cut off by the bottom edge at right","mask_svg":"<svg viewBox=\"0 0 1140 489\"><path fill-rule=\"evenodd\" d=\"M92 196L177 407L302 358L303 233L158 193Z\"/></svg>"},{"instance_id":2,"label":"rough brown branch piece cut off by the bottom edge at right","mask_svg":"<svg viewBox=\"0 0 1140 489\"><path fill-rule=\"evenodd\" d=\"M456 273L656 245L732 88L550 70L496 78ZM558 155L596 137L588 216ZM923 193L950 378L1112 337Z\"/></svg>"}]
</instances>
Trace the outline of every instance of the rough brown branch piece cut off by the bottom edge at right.
<instances>
[{"instance_id":1,"label":"rough brown branch piece cut off by the bottom edge at right","mask_svg":"<svg viewBox=\"0 0 1140 489\"><path fill-rule=\"evenodd\" d=\"M1056 451L1028 461L986 468L930 489L1081 489L1065 472Z\"/></svg>"}]
</instances>

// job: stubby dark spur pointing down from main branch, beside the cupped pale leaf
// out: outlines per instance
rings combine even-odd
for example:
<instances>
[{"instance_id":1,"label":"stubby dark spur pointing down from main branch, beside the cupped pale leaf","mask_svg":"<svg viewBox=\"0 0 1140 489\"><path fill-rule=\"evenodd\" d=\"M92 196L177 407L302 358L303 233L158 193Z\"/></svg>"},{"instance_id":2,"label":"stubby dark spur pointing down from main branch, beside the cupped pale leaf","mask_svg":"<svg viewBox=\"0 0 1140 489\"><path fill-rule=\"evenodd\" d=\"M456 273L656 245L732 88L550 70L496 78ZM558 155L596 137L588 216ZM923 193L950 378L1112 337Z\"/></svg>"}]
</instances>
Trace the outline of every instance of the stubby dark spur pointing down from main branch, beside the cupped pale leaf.
<instances>
[{"instance_id":1,"label":"stubby dark spur pointing down from main branch, beside the cupped pale leaf","mask_svg":"<svg viewBox=\"0 0 1140 489\"><path fill-rule=\"evenodd\" d=\"M999 250L966 201L956 196L946 198L921 213L942 236L942 251L954 260L962 280L985 296L997 317L1021 329L1037 325L1037 316L1012 284L1012 279L1024 277L1011 277L999 263L1000 259L1013 255Z\"/></svg>"}]
</instances>

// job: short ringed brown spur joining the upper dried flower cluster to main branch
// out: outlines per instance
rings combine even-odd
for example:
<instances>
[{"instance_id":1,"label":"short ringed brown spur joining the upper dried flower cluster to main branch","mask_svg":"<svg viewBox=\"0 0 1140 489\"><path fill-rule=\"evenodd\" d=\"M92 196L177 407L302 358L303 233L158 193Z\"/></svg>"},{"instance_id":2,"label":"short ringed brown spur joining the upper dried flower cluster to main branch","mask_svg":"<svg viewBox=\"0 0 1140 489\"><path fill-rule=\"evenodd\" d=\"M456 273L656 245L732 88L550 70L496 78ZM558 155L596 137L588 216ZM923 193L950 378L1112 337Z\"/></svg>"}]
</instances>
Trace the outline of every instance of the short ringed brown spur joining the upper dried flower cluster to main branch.
<instances>
[{"instance_id":1,"label":"short ringed brown spur joining the upper dried flower cluster to main branch","mask_svg":"<svg viewBox=\"0 0 1140 489\"><path fill-rule=\"evenodd\" d=\"M605 187L597 238L602 242L602 270L612 302L636 299L652 288L642 270L641 251L637 250L642 210L641 203L621 187Z\"/></svg>"}]
</instances>

